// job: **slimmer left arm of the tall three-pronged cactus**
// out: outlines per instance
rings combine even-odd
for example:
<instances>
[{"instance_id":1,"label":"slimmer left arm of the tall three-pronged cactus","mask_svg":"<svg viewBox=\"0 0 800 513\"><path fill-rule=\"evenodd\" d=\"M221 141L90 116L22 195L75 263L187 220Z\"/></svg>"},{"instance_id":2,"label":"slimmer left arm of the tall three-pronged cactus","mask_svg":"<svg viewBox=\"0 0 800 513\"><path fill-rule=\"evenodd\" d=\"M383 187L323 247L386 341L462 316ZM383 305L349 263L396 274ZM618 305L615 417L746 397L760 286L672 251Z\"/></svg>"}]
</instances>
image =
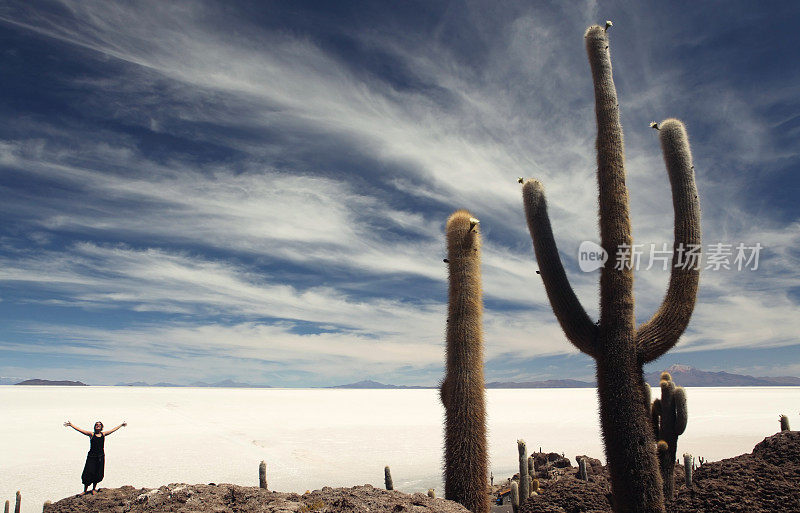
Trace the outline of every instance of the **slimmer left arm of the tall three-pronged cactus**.
<instances>
[{"instance_id":1,"label":"slimmer left arm of the tall three-pronged cactus","mask_svg":"<svg viewBox=\"0 0 800 513\"><path fill-rule=\"evenodd\" d=\"M542 184L537 180L528 180L522 187L522 198L539 273L556 319L567 339L594 357L597 354L597 326L589 318L567 279L547 215Z\"/></svg>"}]
</instances>

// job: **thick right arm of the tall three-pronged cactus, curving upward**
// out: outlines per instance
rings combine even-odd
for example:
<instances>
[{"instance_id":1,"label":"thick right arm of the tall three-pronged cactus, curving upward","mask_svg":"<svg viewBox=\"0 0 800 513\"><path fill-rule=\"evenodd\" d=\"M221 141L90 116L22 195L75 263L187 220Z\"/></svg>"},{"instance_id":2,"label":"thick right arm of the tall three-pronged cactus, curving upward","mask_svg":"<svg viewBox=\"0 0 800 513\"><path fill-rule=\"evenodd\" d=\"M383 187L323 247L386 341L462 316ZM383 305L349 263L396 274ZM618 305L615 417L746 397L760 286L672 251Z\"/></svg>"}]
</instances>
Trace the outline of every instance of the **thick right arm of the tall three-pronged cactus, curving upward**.
<instances>
[{"instance_id":1,"label":"thick right arm of the tall three-pronged cactus, curving upward","mask_svg":"<svg viewBox=\"0 0 800 513\"><path fill-rule=\"evenodd\" d=\"M680 251L691 246L700 247L700 202L694 181L694 166L689 148L689 138L683 123L668 119L659 129L661 148L672 187L672 204L675 211L675 242L673 267L667 295L655 315L636 331L639 361L647 363L671 349L681 336L694 310L700 270L684 266L675 267Z\"/></svg>"}]
</instances>

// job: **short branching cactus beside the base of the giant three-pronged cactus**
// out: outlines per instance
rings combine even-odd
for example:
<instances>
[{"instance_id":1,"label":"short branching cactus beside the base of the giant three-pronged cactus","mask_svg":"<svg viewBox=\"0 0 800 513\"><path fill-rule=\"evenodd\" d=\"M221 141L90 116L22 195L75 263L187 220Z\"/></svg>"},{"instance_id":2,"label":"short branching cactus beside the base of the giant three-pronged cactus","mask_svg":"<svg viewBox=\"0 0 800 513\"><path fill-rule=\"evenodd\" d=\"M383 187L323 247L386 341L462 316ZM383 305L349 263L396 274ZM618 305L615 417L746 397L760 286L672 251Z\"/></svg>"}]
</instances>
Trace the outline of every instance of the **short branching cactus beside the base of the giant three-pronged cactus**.
<instances>
[{"instance_id":1,"label":"short branching cactus beside the base of the giant three-pronged cactus","mask_svg":"<svg viewBox=\"0 0 800 513\"><path fill-rule=\"evenodd\" d=\"M669 372L661 374L661 399L653 401L651 411L653 432L656 440L667 444L667 449L658 453L661 480L664 482L664 497L675 494L675 458L678 454L678 437L686 430L689 414L686 409L686 392L675 386Z\"/></svg>"}]
</instances>

